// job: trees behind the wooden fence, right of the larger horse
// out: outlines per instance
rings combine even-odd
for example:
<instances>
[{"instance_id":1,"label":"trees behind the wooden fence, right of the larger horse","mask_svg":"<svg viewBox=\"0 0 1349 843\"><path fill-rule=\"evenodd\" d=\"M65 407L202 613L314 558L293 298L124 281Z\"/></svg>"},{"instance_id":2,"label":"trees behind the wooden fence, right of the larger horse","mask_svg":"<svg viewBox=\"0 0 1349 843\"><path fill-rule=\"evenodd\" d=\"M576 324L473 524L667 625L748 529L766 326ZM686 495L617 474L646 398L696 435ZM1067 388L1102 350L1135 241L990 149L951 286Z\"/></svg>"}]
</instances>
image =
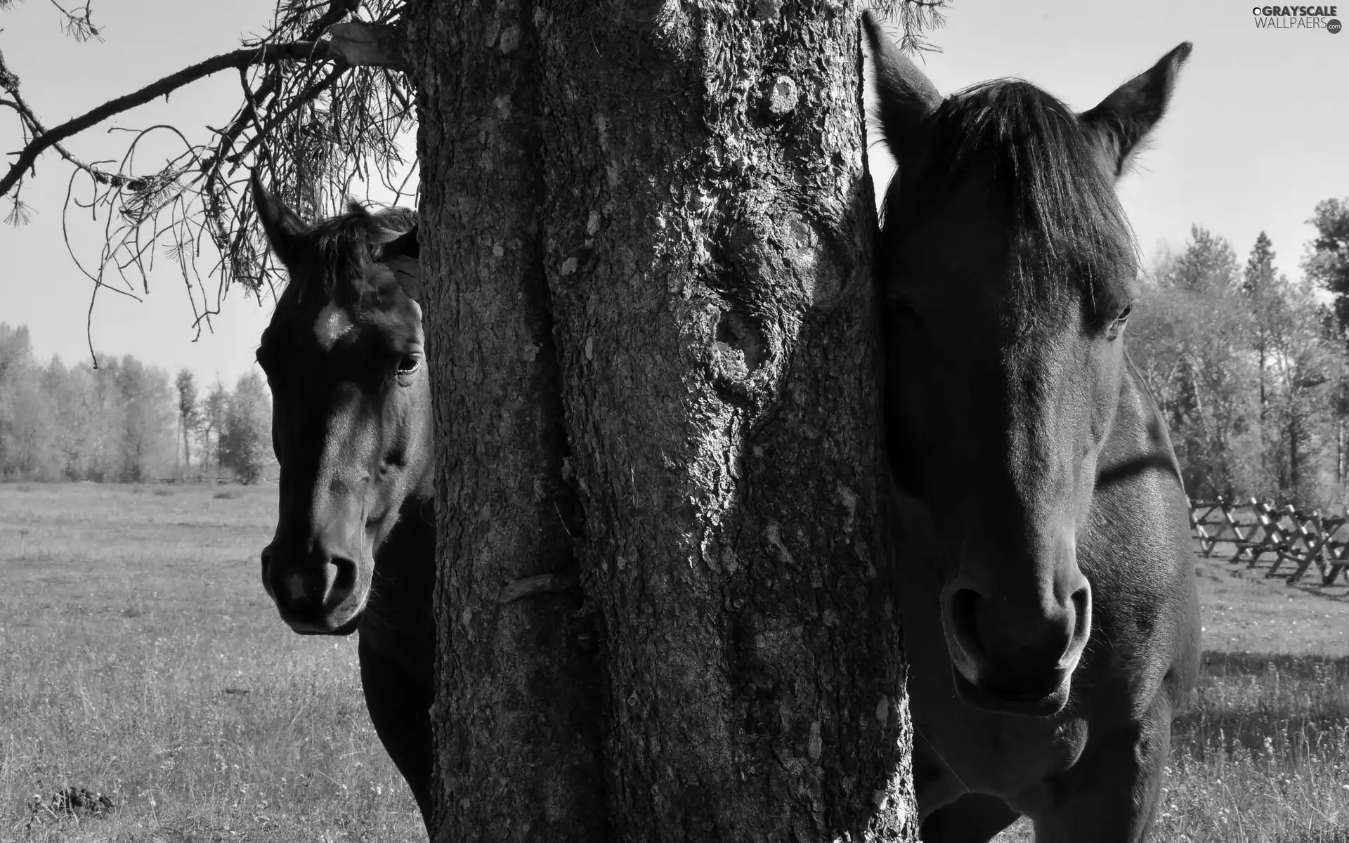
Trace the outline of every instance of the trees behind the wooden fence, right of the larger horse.
<instances>
[{"instance_id":1,"label":"trees behind the wooden fence, right of the larger horse","mask_svg":"<svg viewBox=\"0 0 1349 843\"><path fill-rule=\"evenodd\" d=\"M1242 264L1198 225L1143 272L1129 353L1191 500L1349 498L1349 198L1318 204L1309 223L1299 281L1264 232Z\"/></svg>"}]
</instances>

